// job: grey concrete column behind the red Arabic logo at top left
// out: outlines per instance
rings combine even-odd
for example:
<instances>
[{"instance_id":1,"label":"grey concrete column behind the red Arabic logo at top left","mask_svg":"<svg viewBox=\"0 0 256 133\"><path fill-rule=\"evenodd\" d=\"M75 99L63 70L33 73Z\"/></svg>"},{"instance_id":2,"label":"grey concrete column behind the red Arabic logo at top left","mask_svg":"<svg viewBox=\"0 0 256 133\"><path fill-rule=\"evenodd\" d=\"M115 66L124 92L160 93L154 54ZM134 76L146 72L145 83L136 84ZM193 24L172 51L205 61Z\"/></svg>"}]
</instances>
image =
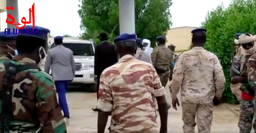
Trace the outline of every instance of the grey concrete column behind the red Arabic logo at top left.
<instances>
[{"instance_id":1,"label":"grey concrete column behind the red Arabic logo at top left","mask_svg":"<svg viewBox=\"0 0 256 133\"><path fill-rule=\"evenodd\" d=\"M10 13L15 18L15 23L19 23L19 12L18 12L18 0L6 0L6 6L7 7L13 7L14 9L6 10L7 15ZM10 19L8 19L10 20ZM14 23L13 23L14 24ZM13 24L7 24L7 28L10 28L11 31L13 31L13 28L16 28ZM18 25L20 26L20 25Z\"/></svg>"}]
</instances>

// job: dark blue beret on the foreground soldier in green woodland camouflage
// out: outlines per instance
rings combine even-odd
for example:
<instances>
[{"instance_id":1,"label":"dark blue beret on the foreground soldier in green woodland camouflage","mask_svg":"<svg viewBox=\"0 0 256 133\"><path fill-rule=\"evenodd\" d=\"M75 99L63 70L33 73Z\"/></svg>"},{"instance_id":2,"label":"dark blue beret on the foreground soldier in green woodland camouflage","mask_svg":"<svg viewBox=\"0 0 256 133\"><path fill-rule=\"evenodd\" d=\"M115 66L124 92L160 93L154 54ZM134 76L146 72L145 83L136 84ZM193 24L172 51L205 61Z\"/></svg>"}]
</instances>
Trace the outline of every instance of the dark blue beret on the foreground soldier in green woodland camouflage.
<instances>
[{"instance_id":1,"label":"dark blue beret on the foreground soldier in green woodland camouflage","mask_svg":"<svg viewBox=\"0 0 256 133\"><path fill-rule=\"evenodd\" d=\"M32 25L26 25L26 26L24 27L24 29L27 29L27 30L28 30L29 28L33 29L33 26L32 26ZM37 35L36 35L36 34L32 34L32 35L26 35L26 36L36 36L36 37L38 37L38 38L42 38L42 39L44 39L44 40L48 40L47 34L48 34L48 33L50 34L50 30L49 30L49 29L43 28L43 27L40 27L40 26L35 26L35 27L34 27L34 30L35 30L35 28L38 29L38 34L37 34ZM22 29L22 30L24 30L24 29ZM20 33L20 34L22 34L22 33Z\"/></svg>"}]
</instances>

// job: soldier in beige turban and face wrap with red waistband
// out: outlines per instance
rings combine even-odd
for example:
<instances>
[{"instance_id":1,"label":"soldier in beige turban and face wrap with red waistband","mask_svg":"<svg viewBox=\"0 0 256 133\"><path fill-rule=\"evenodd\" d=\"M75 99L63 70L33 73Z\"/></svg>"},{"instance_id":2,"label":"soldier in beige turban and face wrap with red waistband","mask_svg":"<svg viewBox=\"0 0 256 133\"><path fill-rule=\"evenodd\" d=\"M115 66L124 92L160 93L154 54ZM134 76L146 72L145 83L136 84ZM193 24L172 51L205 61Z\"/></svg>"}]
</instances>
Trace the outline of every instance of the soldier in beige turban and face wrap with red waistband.
<instances>
[{"instance_id":1,"label":"soldier in beige turban and face wrap with red waistband","mask_svg":"<svg viewBox=\"0 0 256 133\"><path fill-rule=\"evenodd\" d=\"M238 127L240 133L249 133L252 129L253 122L253 99L254 90L250 87L248 83L248 73L247 73L247 62L251 55L256 52L255 45L256 38L251 34L242 34L239 36L239 43L242 44L242 54L234 57L231 66L231 83L237 84L242 83L242 93L241 93L241 103L240 103L240 118L238 122ZM255 125L253 128L255 130Z\"/></svg>"}]
</instances>

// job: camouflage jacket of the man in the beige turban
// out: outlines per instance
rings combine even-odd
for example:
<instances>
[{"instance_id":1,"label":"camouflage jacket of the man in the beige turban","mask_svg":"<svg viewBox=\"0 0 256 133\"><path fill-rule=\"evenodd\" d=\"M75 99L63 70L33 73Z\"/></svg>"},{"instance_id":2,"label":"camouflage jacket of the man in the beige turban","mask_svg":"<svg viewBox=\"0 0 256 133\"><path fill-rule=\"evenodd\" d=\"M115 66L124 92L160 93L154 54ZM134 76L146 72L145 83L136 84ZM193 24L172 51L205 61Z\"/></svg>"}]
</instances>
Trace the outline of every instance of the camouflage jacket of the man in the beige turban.
<instances>
[{"instance_id":1,"label":"camouflage jacket of the man in the beige turban","mask_svg":"<svg viewBox=\"0 0 256 133\"><path fill-rule=\"evenodd\" d=\"M247 73L247 62L249 60L251 55L243 56L243 55L237 55L234 57L232 66L231 66L231 78L234 76L246 76L248 77ZM242 61L242 58L244 58L244 61ZM241 68L241 64L243 65L243 68ZM244 93L248 93L250 95L254 95L254 91L251 89L248 83L242 84L240 88Z\"/></svg>"}]
</instances>

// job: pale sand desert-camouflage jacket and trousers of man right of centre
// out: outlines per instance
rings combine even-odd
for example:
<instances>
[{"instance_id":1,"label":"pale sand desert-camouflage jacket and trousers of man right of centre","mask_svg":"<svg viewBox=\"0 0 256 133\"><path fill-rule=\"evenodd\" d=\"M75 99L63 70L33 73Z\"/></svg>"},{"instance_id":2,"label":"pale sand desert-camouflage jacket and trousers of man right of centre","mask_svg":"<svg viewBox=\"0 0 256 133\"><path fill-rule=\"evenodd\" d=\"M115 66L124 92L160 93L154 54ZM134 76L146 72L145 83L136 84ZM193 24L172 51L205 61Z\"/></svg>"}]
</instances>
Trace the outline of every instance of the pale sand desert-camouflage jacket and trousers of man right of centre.
<instances>
[{"instance_id":1,"label":"pale sand desert-camouflage jacket and trousers of man right of centre","mask_svg":"<svg viewBox=\"0 0 256 133\"><path fill-rule=\"evenodd\" d=\"M210 133L213 98L221 98L225 77L219 59L202 47L194 47L180 55L177 61L171 89L176 98L181 88L182 119L184 133Z\"/></svg>"}]
</instances>

